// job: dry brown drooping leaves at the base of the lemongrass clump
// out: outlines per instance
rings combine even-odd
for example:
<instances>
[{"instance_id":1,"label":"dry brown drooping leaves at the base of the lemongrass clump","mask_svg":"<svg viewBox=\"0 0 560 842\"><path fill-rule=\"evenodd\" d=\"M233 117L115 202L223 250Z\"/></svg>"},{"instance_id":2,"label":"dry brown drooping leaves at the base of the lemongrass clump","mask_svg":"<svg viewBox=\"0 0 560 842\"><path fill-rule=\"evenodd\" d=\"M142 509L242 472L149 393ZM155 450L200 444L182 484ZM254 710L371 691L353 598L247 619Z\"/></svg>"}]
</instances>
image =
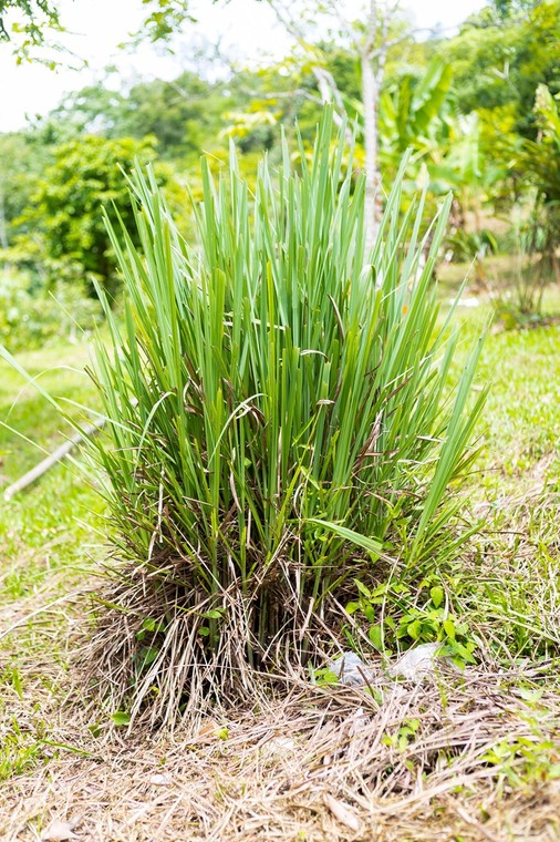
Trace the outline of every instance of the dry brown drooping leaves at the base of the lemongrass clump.
<instances>
[{"instance_id":1,"label":"dry brown drooping leaves at the base of the lemongrass clump","mask_svg":"<svg viewBox=\"0 0 560 842\"><path fill-rule=\"evenodd\" d=\"M366 559L354 565L355 573L367 569ZM284 694L294 680L326 664L328 653L343 650L350 617L342 605L355 586L345 583L314 607L294 593L293 576L290 582L288 569L279 566L265 599L258 588L251 595L231 586L218 608L209 608L208 596L189 587L186 571L180 578L177 566L169 565L167 578L160 569L155 575L132 565L110 568L108 579L92 595L93 633L82 639L74 658L87 694L104 709L126 710L131 721L153 727L173 727L216 706ZM387 571L376 571L374 584L383 573ZM369 581L373 587L371 571ZM265 612L274 615L274 635L259 629ZM219 632L214 648L212 622Z\"/></svg>"}]
</instances>

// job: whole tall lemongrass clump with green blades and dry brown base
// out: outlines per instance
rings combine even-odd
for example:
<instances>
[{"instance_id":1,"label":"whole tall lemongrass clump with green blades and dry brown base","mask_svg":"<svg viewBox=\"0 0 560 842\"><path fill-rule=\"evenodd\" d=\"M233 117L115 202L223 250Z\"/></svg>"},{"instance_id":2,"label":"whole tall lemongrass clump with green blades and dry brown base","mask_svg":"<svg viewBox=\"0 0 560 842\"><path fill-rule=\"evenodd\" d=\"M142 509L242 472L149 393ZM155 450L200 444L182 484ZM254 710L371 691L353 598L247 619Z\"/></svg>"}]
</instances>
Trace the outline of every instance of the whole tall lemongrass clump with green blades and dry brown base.
<instances>
[{"instance_id":1,"label":"whole tall lemongrass clump with green blades and dry brown base","mask_svg":"<svg viewBox=\"0 0 560 842\"><path fill-rule=\"evenodd\" d=\"M478 348L448 382L433 273L449 199L421 238L402 170L366 255L351 157L326 110L311 157L284 142L255 194L235 152L216 178L203 161L196 243L149 172L132 178L141 249L111 230L124 315L105 302L92 446L118 565L94 646L133 715L250 694L257 669L312 654L354 577L438 564L468 533L456 487L483 394Z\"/></svg>"}]
</instances>

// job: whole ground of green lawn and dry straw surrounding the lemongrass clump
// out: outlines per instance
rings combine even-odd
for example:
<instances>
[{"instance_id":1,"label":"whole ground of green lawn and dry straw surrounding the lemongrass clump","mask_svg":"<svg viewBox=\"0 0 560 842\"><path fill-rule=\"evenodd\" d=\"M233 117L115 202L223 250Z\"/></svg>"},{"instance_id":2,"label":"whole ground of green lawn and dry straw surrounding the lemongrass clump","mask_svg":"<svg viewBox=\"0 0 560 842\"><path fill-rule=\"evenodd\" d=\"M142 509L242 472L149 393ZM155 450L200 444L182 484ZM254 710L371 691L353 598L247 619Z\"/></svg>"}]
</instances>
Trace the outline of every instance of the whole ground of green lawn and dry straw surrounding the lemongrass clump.
<instances>
[{"instance_id":1,"label":"whole ground of green lawn and dry straw surrounding the lemongrass clump","mask_svg":"<svg viewBox=\"0 0 560 842\"><path fill-rule=\"evenodd\" d=\"M466 338L479 309L459 309ZM94 407L86 359L77 345L20 361ZM488 380L465 504L480 532L442 582L477 663L383 702L300 676L288 698L188 731L115 727L126 717L80 685L106 534L94 486L66 464L3 504L0 838L35 840L58 820L100 842L559 839L558 327L491 333L478 387ZM68 430L23 387L0 363L0 420L52 450ZM41 458L0 429L3 484Z\"/></svg>"}]
</instances>

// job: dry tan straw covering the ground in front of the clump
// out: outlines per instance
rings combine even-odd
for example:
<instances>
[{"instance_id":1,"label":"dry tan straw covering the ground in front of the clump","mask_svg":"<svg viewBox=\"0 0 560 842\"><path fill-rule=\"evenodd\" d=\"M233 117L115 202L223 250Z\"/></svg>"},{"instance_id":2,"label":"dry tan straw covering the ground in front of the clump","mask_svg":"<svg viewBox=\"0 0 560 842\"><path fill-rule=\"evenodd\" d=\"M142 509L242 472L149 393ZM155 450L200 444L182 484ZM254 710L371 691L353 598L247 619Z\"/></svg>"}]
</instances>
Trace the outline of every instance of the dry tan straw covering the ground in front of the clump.
<instances>
[{"instance_id":1,"label":"dry tan straw covering the ground in front of the clump","mask_svg":"<svg viewBox=\"0 0 560 842\"><path fill-rule=\"evenodd\" d=\"M92 842L560 839L560 781L522 752L509 767L488 761L497 743L560 746L560 698L527 704L519 675L443 672L390 682L377 701L300 681L173 735L94 737L91 711L45 686L55 665L35 665L34 678L29 666L29 696L9 707L23 731L42 722L44 743L0 790L2 840L43 839L53 821Z\"/></svg>"}]
</instances>

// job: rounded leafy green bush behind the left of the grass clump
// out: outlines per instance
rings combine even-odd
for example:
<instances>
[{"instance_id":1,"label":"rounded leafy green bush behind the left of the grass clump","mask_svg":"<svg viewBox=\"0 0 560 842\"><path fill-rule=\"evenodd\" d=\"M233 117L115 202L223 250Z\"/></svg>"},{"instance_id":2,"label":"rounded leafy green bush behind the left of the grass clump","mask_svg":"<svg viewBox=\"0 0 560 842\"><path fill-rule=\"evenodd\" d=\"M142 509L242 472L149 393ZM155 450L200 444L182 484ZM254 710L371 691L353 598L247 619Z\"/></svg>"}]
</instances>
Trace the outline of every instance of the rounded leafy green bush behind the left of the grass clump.
<instances>
[{"instance_id":1,"label":"rounded leafy green bush behind the left of the grass clump","mask_svg":"<svg viewBox=\"0 0 560 842\"><path fill-rule=\"evenodd\" d=\"M17 238L15 261L28 255L41 260L52 279L85 281L93 291L95 278L114 290L116 265L101 210L105 208L111 219L121 216L133 228L120 167L154 157L151 138L108 141L85 135L58 146L53 164L37 186L33 205L20 219L25 233ZM162 179L162 170L156 172Z\"/></svg>"}]
</instances>

